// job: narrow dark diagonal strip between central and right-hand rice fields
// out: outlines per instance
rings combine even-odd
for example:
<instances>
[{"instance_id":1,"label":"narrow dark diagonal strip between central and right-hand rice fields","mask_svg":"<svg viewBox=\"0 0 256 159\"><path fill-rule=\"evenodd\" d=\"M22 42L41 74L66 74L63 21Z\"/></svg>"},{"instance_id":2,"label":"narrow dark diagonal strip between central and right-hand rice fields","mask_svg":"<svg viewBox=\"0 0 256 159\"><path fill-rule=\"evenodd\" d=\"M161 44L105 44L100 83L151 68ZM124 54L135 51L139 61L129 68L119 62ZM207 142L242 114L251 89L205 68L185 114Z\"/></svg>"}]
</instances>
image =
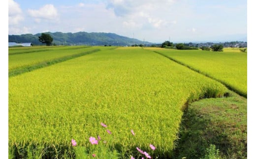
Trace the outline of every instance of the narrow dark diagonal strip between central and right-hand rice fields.
<instances>
[{"instance_id":1,"label":"narrow dark diagonal strip between central and right-hand rice fields","mask_svg":"<svg viewBox=\"0 0 256 159\"><path fill-rule=\"evenodd\" d=\"M189 69L191 69L191 70L193 70L193 71L195 71L195 72L197 72L197 73L200 73L200 74L202 74L202 75L204 75L204 76L206 76L206 77L209 77L209 78L211 78L211 79L213 79L213 80L215 80L215 81L217 81L217 82L220 82L220 83L222 83L227 89L229 89L230 91L233 91L233 92L237 93L238 95L241 95L241 96L247 98L247 94L246 94L246 95L243 94L242 92L240 92L239 90L233 88L232 86L228 85L227 83L225 83L225 82L222 81L222 80L216 79L215 77L212 77L212 76L210 76L210 75L207 74L207 73L201 72L200 70L195 69L195 68L191 67L191 66L188 65L188 64L184 64L184 63L182 63L182 62L180 62L180 61L177 61L177 60L175 60L175 59L173 59L173 58L171 58L171 57L168 57L168 56L166 56L166 55L164 55L164 54L162 54L162 53L160 53L160 52L158 52L158 51L153 51L153 52L155 52L155 53L157 53L157 54L159 54L159 55L161 55L161 56L163 56L163 57L165 57L165 58L167 58L167 59L169 59L169 60L171 60L171 61L173 61L173 62L175 62L175 63L177 63L177 64L181 64L181 65L183 65L183 66L185 66L185 67L187 67L187 68L189 68Z\"/></svg>"}]
</instances>

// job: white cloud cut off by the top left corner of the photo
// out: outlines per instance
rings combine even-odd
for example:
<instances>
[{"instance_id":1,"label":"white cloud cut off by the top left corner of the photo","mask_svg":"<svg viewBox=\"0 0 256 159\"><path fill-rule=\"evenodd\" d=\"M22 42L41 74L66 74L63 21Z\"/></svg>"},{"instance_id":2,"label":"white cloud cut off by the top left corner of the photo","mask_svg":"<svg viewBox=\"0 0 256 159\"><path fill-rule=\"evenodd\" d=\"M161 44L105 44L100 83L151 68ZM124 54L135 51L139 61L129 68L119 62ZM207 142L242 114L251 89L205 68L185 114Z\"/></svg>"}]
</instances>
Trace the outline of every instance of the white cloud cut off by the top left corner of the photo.
<instances>
[{"instance_id":1,"label":"white cloud cut off by the top left corner of the photo","mask_svg":"<svg viewBox=\"0 0 256 159\"><path fill-rule=\"evenodd\" d=\"M18 3L13 0L9 0L9 25L17 25L24 20L22 10Z\"/></svg>"}]
</instances>

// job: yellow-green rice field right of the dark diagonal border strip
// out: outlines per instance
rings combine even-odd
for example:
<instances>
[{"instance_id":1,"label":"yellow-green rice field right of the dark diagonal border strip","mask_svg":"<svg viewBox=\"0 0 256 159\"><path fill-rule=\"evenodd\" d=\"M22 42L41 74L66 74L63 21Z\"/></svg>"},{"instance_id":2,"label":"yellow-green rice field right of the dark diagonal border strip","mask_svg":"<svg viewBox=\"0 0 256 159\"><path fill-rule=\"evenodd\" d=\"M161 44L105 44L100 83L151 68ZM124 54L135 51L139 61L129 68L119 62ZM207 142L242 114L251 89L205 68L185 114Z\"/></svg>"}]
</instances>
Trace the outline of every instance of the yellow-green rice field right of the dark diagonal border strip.
<instances>
[{"instance_id":1,"label":"yellow-green rice field right of the dark diagonal border strip","mask_svg":"<svg viewBox=\"0 0 256 159\"><path fill-rule=\"evenodd\" d=\"M218 80L240 95L247 96L247 53L148 49Z\"/></svg>"}]
</instances>

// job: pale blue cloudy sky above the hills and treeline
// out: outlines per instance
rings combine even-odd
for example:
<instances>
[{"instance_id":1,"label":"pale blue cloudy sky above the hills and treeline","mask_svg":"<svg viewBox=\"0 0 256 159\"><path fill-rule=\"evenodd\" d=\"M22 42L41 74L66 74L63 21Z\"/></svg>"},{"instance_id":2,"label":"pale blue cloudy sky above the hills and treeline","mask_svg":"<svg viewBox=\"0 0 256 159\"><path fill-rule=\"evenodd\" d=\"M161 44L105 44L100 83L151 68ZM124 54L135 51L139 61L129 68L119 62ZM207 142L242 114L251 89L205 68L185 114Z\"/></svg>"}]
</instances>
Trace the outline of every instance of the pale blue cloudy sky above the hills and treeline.
<instances>
[{"instance_id":1,"label":"pale blue cloudy sky above the hills and treeline","mask_svg":"<svg viewBox=\"0 0 256 159\"><path fill-rule=\"evenodd\" d=\"M8 34L112 32L153 43L246 41L247 0L9 0Z\"/></svg>"}]
</instances>

